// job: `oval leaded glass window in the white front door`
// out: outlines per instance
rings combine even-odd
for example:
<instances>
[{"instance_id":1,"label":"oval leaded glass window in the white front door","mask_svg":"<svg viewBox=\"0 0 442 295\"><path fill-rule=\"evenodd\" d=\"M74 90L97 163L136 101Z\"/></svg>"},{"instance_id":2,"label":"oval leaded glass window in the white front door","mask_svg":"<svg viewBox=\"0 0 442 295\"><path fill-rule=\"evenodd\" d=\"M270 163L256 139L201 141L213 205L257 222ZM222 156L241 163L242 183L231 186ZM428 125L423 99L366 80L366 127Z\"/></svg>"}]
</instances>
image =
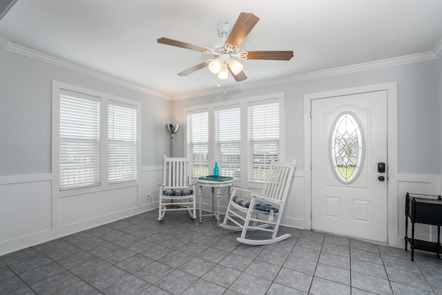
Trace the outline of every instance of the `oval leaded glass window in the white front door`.
<instances>
[{"instance_id":1,"label":"oval leaded glass window in the white front door","mask_svg":"<svg viewBox=\"0 0 442 295\"><path fill-rule=\"evenodd\" d=\"M358 117L338 115L330 132L329 152L332 170L340 182L349 184L358 178L363 165L364 136Z\"/></svg>"}]
</instances>

